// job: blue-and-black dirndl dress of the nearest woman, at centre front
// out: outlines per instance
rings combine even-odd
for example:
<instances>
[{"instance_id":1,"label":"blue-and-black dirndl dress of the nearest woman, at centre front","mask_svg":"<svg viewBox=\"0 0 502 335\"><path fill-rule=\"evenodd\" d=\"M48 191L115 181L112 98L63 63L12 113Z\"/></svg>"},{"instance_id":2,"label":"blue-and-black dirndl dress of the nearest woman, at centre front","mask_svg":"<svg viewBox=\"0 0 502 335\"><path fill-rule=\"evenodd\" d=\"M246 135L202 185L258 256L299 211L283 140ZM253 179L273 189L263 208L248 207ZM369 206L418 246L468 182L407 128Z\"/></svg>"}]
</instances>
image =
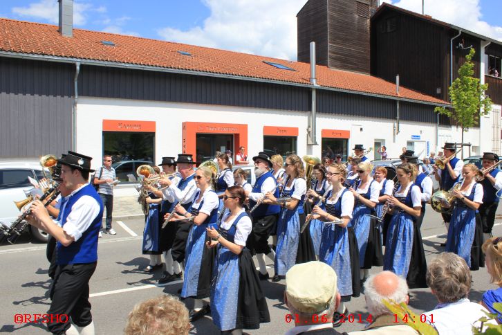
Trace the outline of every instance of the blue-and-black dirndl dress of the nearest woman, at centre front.
<instances>
[{"instance_id":1,"label":"blue-and-black dirndl dress of the nearest woman, at centre front","mask_svg":"<svg viewBox=\"0 0 502 335\"><path fill-rule=\"evenodd\" d=\"M246 212L241 212L228 230L219 226L221 236L233 243L237 225L246 216ZM217 246L211 284L211 314L214 325L221 331L258 329L260 323L270 322L266 298L247 248L236 255L221 244Z\"/></svg>"}]
</instances>

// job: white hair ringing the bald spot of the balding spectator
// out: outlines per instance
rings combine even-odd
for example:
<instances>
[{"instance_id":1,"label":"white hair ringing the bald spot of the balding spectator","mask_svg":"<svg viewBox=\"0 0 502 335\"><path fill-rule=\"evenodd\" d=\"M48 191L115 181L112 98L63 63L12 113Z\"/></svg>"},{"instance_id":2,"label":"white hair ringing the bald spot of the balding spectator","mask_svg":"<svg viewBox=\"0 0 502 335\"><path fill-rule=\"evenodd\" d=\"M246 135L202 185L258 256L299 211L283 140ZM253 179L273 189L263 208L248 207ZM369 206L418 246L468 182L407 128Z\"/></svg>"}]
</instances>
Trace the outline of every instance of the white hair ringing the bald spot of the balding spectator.
<instances>
[{"instance_id":1,"label":"white hair ringing the bald spot of the balding spectator","mask_svg":"<svg viewBox=\"0 0 502 335\"><path fill-rule=\"evenodd\" d=\"M398 287L391 294L384 296L378 292L375 287L375 277L381 274L393 274L396 276L398 280ZM376 275L371 275L368 280L364 283L364 298L366 299L366 305L368 306L368 311L373 317L381 316L384 314L393 314L392 311L389 311L387 307L384 305L383 300L393 300L400 304L401 302L405 302L408 296L408 284L406 280L391 271L382 271Z\"/></svg>"}]
</instances>

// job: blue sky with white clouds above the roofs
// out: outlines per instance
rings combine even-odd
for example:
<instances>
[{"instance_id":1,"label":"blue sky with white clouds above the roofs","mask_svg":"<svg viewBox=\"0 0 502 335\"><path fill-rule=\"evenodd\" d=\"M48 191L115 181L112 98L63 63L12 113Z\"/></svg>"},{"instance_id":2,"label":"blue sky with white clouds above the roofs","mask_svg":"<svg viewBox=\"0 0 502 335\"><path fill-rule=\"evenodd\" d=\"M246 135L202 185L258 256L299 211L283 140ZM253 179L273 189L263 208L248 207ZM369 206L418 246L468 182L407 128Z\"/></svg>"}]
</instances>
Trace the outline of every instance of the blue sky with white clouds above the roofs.
<instances>
[{"instance_id":1,"label":"blue sky with white clouds above the roofs","mask_svg":"<svg viewBox=\"0 0 502 335\"><path fill-rule=\"evenodd\" d=\"M0 0L0 17L57 24L57 0ZM421 0L382 0L421 12ZM306 0L75 0L77 28L296 59ZM502 0L425 0L436 19L502 40Z\"/></svg>"}]
</instances>

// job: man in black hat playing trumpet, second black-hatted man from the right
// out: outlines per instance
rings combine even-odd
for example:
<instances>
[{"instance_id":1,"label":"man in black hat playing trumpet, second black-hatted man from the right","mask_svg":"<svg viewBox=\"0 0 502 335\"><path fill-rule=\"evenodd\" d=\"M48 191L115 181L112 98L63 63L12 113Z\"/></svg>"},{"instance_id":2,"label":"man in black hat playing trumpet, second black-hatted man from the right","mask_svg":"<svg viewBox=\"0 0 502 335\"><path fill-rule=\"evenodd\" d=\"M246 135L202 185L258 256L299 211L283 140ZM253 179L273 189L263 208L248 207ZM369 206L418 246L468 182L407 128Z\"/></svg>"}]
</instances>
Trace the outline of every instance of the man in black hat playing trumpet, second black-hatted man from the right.
<instances>
[{"instance_id":1,"label":"man in black hat playing trumpet, second black-hatted man from the right","mask_svg":"<svg viewBox=\"0 0 502 335\"><path fill-rule=\"evenodd\" d=\"M433 165L434 177L437 181L439 181L440 189L443 191L448 191L453 187L454 183L458 181L460 176L462 175L462 168L464 167L464 162L461 159L456 158L456 145L455 143L445 143L445 146L442 148L444 152L444 157L442 161L446 161L444 169L438 169L437 165ZM437 163L437 162L436 162ZM445 220L446 228L449 227L449 221L452 219L451 214L442 213L441 216L443 220ZM446 245L442 243L443 246Z\"/></svg>"}]
</instances>

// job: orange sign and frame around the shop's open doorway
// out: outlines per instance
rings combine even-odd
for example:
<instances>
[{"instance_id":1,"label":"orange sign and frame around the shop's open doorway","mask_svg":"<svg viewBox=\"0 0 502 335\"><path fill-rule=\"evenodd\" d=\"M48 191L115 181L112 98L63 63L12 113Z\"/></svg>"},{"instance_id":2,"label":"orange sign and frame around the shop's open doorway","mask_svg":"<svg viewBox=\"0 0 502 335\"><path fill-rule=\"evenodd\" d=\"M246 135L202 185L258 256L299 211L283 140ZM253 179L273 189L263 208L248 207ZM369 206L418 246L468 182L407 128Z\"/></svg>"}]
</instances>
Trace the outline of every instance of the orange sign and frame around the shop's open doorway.
<instances>
[{"instance_id":1,"label":"orange sign and frame around the shop's open doorway","mask_svg":"<svg viewBox=\"0 0 502 335\"><path fill-rule=\"evenodd\" d=\"M196 157L196 134L233 134L234 150L239 152L239 147L248 147L248 125L236 123L204 123L184 122L181 130L181 146L183 154L192 154Z\"/></svg>"}]
</instances>

